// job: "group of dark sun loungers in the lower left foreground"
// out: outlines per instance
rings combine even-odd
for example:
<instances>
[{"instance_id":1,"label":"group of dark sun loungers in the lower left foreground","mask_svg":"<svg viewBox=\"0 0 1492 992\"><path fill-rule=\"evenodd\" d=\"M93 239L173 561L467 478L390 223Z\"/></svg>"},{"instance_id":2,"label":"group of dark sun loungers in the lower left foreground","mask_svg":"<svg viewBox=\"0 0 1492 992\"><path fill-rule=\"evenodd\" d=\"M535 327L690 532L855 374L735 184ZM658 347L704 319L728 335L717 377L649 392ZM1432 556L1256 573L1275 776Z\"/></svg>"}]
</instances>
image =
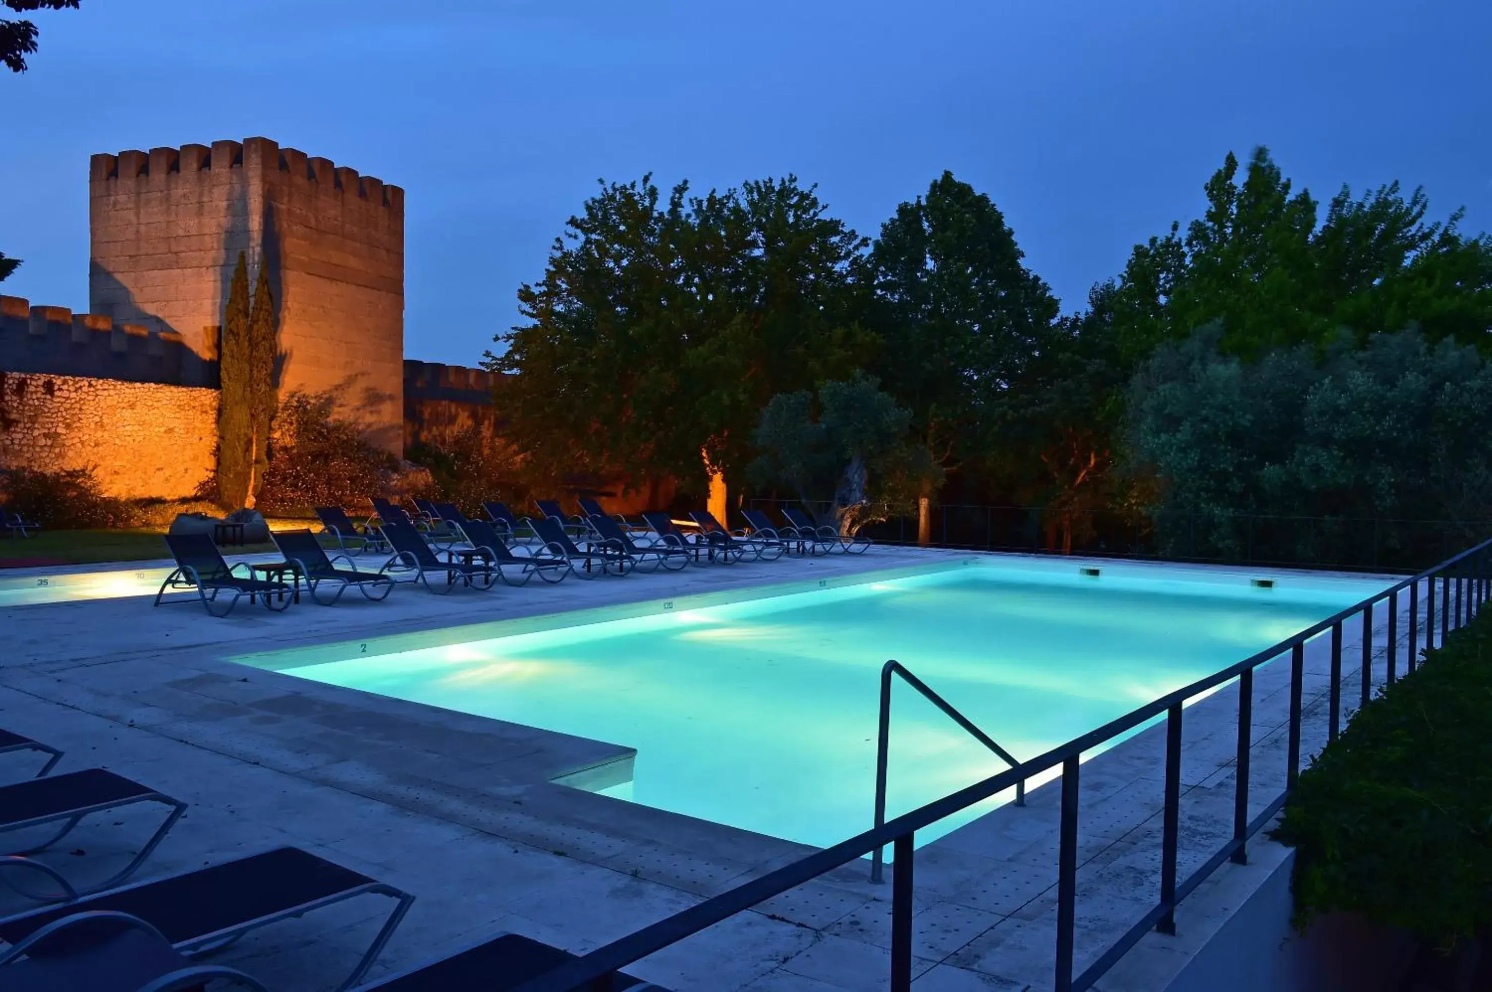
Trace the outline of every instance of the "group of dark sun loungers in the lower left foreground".
<instances>
[{"instance_id":1,"label":"group of dark sun loungers in the lower left foreground","mask_svg":"<svg viewBox=\"0 0 1492 992\"><path fill-rule=\"evenodd\" d=\"M0 834L63 826L45 844L0 856L0 883L39 904L0 919L0 991L164 992L195 989L218 979L264 989L252 976L201 959L251 931L364 895L389 898L394 905L340 991L510 989L570 959L536 940L497 934L358 985L409 911L412 894L298 847L275 847L122 885L155 850L186 803L103 768L52 776L61 750L0 729L0 753L21 750L36 750L48 761L34 779L0 786ZM158 803L169 813L140 853L113 877L91 886L75 885L34 858L88 817L136 803ZM609 988L662 992L622 973L612 976Z\"/></svg>"}]
</instances>

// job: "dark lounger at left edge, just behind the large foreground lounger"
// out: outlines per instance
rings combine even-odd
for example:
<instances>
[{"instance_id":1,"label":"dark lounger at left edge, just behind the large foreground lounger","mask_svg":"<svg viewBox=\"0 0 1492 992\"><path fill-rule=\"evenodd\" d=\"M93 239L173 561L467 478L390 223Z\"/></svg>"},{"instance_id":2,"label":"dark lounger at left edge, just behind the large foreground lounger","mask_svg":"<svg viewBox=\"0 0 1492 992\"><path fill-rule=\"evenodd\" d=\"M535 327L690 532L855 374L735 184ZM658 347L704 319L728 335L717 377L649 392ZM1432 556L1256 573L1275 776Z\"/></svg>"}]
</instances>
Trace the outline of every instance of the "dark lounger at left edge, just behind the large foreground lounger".
<instances>
[{"instance_id":1,"label":"dark lounger at left edge, just behind the large foreground lounger","mask_svg":"<svg viewBox=\"0 0 1492 992\"><path fill-rule=\"evenodd\" d=\"M134 870L151 856L155 846L161 843L161 838L166 837L167 831L176 825L176 820L181 819L181 814L186 810L185 803L173 800L164 792L158 792L151 786L140 785L139 782L133 782L104 768L85 768L84 771L69 771L60 776L46 776L43 779L18 782L15 785L0 788L0 832L7 834L12 831L48 826L52 823L61 823L61 828L43 844L31 844L24 850L7 850L6 853L10 856L25 858L27 855L46 850L63 837L67 837L67 834L70 834L73 828L78 826L78 823L90 813L118 810L125 806L134 806L136 803L160 803L172 807L172 812L166 816L166 822L161 823L155 834L152 834L145 846L140 847L130 864L104 882L87 889L79 889L67 882L63 874L54 868L42 865L40 862L33 862L37 865L37 871L51 877L52 882L57 883L58 891L64 895L76 897L88 892L98 892L101 889L110 889L128 879ZM4 864L9 864L9 859L4 859ZM12 876L0 874L0 883L9 885L16 892L30 898L54 898L51 894L39 895L34 889L24 888L25 883L18 883Z\"/></svg>"}]
</instances>

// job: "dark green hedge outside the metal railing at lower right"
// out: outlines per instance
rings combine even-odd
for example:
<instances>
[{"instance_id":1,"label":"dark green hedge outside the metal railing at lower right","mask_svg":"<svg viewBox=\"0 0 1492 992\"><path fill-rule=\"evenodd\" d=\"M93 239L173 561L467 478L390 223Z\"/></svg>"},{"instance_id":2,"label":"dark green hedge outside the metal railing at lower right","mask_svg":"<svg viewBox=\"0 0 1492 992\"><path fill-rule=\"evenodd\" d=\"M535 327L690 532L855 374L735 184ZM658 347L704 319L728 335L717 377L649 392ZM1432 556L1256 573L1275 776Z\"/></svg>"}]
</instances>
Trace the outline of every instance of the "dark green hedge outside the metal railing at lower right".
<instances>
[{"instance_id":1,"label":"dark green hedge outside the metal railing at lower right","mask_svg":"<svg viewBox=\"0 0 1492 992\"><path fill-rule=\"evenodd\" d=\"M1358 713L1274 837L1301 928L1344 910L1446 947L1492 925L1492 615Z\"/></svg>"}]
</instances>

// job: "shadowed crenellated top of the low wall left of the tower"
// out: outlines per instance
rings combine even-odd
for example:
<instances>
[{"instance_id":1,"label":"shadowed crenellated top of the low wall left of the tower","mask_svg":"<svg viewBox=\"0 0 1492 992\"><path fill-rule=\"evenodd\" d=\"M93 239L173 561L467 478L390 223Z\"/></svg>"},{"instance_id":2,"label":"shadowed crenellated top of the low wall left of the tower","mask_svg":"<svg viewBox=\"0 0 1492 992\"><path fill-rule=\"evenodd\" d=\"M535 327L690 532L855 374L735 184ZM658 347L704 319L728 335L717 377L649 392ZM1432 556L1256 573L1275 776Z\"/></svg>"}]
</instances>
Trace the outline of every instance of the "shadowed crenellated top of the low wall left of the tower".
<instances>
[{"instance_id":1,"label":"shadowed crenellated top of the low wall left of the tower","mask_svg":"<svg viewBox=\"0 0 1492 992\"><path fill-rule=\"evenodd\" d=\"M0 368L176 386L216 385L213 362L186 348L175 331L115 322L104 313L31 306L24 297L6 295L0 295Z\"/></svg>"}]
</instances>

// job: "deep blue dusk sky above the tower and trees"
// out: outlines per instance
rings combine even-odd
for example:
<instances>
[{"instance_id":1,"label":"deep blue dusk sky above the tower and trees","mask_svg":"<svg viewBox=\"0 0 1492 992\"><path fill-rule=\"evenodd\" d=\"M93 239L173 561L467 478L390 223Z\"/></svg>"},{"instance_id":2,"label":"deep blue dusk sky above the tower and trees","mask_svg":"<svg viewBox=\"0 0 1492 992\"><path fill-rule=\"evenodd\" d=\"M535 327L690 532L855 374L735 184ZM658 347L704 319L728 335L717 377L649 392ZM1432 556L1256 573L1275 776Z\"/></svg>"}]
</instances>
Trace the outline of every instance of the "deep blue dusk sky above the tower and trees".
<instances>
[{"instance_id":1,"label":"deep blue dusk sky above the tower and trees","mask_svg":"<svg viewBox=\"0 0 1492 992\"><path fill-rule=\"evenodd\" d=\"M84 0L0 73L0 291L88 303L88 155L263 134L398 183L410 358L474 364L595 180L795 173L874 236L941 170L1083 304L1232 149L1492 228L1486 0Z\"/></svg>"}]
</instances>

